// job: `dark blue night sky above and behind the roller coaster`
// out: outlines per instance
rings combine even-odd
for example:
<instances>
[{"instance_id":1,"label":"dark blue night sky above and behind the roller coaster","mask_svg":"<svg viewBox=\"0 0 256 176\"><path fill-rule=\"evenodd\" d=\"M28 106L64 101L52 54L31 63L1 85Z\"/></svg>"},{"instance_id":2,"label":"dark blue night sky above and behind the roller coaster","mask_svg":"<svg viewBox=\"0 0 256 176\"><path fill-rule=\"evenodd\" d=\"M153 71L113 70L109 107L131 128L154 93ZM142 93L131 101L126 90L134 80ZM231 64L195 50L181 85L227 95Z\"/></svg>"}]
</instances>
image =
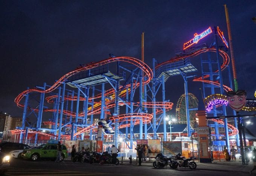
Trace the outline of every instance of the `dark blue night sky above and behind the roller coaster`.
<instances>
[{"instance_id":1,"label":"dark blue night sky above and behind the roller coaster","mask_svg":"<svg viewBox=\"0 0 256 176\"><path fill-rule=\"evenodd\" d=\"M151 68L152 58L161 63L175 57L177 48L209 26L219 26L229 41L223 4L229 9L238 86L254 98L256 1L1 0L0 111L22 116L14 103L20 92L44 82L52 85L79 64L104 60L110 53L140 59L142 32ZM213 35L206 40L213 42ZM199 66L199 57L195 60ZM184 83L181 76L168 83L166 99L174 103L175 113ZM198 99L200 87L189 79L189 92Z\"/></svg>"}]
</instances>

